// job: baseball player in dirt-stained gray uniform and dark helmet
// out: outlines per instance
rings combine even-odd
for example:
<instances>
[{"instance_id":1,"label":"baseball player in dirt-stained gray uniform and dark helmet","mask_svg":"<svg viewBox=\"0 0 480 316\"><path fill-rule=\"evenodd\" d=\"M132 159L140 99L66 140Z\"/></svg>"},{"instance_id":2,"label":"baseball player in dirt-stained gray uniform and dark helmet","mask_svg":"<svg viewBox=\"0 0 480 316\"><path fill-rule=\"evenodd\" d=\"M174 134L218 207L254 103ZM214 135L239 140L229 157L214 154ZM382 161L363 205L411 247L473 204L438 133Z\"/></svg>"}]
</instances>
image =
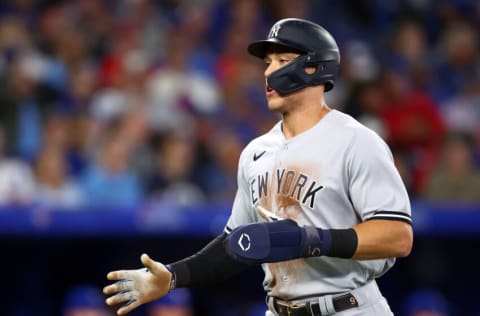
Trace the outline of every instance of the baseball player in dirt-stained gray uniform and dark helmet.
<instances>
[{"instance_id":1,"label":"baseball player in dirt-stained gray uniform and dark helmet","mask_svg":"<svg viewBox=\"0 0 480 316\"><path fill-rule=\"evenodd\" d=\"M412 247L410 203L387 145L330 109L338 46L321 26L283 19L249 45L265 61L268 108L282 115L243 150L224 232L195 255L110 272L118 314L178 287L261 264L266 315L392 315L375 279Z\"/></svg>"}]
</instances>

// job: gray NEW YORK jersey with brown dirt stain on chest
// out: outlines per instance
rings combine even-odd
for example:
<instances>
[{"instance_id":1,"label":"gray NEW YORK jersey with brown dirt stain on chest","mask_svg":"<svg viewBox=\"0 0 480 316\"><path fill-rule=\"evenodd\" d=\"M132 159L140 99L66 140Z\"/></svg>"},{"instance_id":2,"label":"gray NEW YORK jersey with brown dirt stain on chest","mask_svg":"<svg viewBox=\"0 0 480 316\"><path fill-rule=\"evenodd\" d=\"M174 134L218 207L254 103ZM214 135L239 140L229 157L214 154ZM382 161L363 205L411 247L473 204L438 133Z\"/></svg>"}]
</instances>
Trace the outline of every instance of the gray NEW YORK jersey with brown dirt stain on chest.
<instances>
[{"instance_id":1,"label":"gray NEW YORK jersey with brown dirt stain on chest","mask_svg":"<svg viewBox=\"0 0 480 316\"><path fill-rule=\"evenodd\" d=\"M384 141L352 117L330 111L285 139L281 122L243 150L225 231L263 221L262 205L300 226L351 228L369 219L411 222L410 202ZM285 300L339 293L373 280L395 262L312 257L263 264L268 295Z\"/></svg>"}]
</instances>

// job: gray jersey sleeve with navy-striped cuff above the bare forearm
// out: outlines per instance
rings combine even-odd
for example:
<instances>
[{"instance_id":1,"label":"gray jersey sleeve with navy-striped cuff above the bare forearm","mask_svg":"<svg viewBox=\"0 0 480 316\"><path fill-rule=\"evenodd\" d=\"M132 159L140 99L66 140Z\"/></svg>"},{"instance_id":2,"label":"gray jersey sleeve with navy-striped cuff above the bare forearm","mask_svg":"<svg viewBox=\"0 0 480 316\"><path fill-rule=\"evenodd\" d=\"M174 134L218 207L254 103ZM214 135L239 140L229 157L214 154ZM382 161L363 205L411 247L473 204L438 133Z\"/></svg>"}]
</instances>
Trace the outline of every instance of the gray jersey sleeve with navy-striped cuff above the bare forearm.
<instances>
[{"instance_id":1,"label":"gray jersey sleeve with navy-striped cuff above the bare forearm","mask_svg":"<svg viewBox=\"0 0 480 316\"><path fill-rule=\"evenodd\" d=\"M387 144L359 128L347 154L349 197L362 221L390 219L411 223L408 193Z\"/></svg>"}]
</instances>

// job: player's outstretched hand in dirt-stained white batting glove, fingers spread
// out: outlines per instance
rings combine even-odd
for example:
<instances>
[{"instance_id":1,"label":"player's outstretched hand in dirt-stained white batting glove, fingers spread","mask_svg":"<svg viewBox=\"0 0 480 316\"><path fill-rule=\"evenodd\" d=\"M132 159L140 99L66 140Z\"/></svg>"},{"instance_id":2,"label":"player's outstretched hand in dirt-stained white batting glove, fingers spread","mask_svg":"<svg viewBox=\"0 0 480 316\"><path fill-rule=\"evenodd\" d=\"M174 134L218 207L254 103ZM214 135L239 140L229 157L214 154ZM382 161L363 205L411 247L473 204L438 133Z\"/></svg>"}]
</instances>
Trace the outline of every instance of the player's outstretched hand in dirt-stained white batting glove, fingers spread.
<instances>
[{"instance_id":1,"label":"player's outstretched hand in dirt-stained white batting glove, fingers spread","mask_svg":"<svg viewBox=\"0 0 480 316\"><path fill-rule=\"evenodd\" d=\"M159 299L170 290L170 271L147 254L143 254L140 260L145 268L107 274L107 279L117 282L104 287L103 293L110 296L106 299L108 305L121 304L118 315L125 315L142 304Z\"/></svg>"}]
</instances>

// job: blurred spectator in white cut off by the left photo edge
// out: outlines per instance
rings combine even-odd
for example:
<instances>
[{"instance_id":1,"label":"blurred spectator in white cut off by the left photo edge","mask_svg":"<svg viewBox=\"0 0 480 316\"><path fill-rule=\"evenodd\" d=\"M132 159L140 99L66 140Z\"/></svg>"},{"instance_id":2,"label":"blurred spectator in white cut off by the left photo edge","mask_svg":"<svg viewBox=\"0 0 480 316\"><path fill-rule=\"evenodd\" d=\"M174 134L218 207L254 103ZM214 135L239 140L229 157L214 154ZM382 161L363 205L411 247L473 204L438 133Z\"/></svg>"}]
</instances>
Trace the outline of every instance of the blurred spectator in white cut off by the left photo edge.
<instances>
[{"instance_id":1,"label":"blurred spectator in white cut off by the left photo edge","mask_svg":"<svg viewBox=\"0 0 480 316\"><path fill-rule=\"evenodd\" d=\"M0 125L0 205L25 205L33 200L35 180L28 164L5 156L5 137Z\"/></svg>"}]
</instances>

